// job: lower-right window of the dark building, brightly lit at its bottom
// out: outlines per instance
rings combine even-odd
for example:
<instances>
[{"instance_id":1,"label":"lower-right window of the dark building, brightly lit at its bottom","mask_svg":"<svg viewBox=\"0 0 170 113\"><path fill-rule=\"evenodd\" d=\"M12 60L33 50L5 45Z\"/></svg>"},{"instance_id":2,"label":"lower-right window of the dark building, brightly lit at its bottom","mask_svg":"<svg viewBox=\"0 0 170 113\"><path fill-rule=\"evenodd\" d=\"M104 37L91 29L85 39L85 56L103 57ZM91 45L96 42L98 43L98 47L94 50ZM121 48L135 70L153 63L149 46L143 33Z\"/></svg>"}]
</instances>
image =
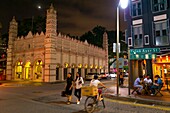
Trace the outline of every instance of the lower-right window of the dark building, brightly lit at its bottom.
<instances>
[{"instance_id":1,"label":"lower-right window of the dark building, brightly lit at its bottom","mask_svg":"<svg viewBox=\"0 0 170 113\"><path fill-rule=\"evenodd\" d=\"M154 22L154 37L156 46L169 45L168 21Z\"/></svg>"}]
</instances>

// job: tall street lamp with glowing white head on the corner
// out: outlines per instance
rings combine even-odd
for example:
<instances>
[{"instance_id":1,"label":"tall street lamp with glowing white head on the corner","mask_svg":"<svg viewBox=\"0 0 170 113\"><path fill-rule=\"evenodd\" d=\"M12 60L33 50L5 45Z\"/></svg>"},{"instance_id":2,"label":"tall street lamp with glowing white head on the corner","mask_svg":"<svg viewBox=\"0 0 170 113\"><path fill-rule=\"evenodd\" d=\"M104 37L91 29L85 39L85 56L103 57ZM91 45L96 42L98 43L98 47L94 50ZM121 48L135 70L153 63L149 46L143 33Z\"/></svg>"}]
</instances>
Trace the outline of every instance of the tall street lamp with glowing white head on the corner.
<instances>
[{"instance_id":1,"label":"tall street lamp with glowing white head on the corner","mask_svg":"<svg viewBox=\"0 0 170 113\"><path fill-rule=\"evenodd\" d=\"M120 0L117 6L117 43L116 43L116 70L117 70L117 96L119 96L119 6L125 9L128 6L128 0Z\"/></svg>"}]
</instances>

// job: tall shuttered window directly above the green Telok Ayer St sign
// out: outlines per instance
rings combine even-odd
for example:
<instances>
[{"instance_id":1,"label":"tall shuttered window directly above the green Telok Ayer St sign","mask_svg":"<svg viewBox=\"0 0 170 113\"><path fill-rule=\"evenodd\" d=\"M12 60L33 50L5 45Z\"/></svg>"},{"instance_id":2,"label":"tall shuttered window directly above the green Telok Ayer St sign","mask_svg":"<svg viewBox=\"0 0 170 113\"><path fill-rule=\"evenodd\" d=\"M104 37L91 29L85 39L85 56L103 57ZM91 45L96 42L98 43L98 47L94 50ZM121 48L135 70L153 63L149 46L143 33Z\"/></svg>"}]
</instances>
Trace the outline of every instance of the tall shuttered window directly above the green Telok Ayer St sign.
<instances>
[{"instance_id":1,"label":"tall shuttered window directly above the green Telok Ayer St sign","mask_svg":"<svg viewBox=\"0 0 170 113\"><path fill-rule=\"evenodd\" d=\"M134 39L134 47L139 48L143 47L143 30L142 25L133 26L133 39Z\"/></svg>"}]
</instances>

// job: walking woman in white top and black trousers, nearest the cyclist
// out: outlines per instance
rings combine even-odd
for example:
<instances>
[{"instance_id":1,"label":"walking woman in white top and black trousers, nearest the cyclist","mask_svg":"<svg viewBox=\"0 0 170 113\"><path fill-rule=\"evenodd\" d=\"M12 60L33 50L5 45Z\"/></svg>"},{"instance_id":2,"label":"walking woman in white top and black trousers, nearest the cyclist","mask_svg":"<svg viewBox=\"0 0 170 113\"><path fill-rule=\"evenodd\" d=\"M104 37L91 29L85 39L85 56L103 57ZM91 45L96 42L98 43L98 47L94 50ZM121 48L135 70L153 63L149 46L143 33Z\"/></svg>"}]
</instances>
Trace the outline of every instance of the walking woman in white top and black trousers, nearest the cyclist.
<instances>
[{"instance_id":1,"label":"walking woman in white top and black trousers, nearest the cyclist","mask_svg":"<svg viewBox=\"0 0 170 113\"><path fill-rule=\"evenodd\" d=\"M76 73L76 79L75 79L75 92L74 95L77 97L77 104L80 104L81 99L81 87L84 84L83 78L79 74L79 72Z\"/></svg>"}]
</instances>

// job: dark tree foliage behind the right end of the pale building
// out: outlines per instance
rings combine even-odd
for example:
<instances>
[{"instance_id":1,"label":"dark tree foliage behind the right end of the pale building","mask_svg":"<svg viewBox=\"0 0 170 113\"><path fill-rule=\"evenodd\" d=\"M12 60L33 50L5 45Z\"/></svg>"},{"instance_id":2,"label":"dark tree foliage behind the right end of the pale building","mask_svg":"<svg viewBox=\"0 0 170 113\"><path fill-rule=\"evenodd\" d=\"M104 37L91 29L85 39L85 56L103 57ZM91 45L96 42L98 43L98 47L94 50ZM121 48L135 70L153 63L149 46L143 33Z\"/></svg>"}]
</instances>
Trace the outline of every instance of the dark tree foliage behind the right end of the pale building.
<instances>
[{"instance_id":1,"label":"dark tree foliage behind the right end of the pale building","mask_svg":"<svg viewBox=\"0 0 170 113\"><path fill-rule=\"evenodd\" d=\"M88 43L96 45L98 47L102 47L103 45L103 34L104 32L107 32L108 35L108 52L109 52L109 58L114 58L116 53L113 53L113 43L117 42L116 38L116 31L107 31L106 28L102 26L96 26L91 31L86 32L82 36L80 36L81 41L87 40ZM125 52L127 52L127 44L122 42L124 41L123 32L120 31L120 45L121 45L121 53L120 57L123 57Z\"/></svg>"}]
</instances>

